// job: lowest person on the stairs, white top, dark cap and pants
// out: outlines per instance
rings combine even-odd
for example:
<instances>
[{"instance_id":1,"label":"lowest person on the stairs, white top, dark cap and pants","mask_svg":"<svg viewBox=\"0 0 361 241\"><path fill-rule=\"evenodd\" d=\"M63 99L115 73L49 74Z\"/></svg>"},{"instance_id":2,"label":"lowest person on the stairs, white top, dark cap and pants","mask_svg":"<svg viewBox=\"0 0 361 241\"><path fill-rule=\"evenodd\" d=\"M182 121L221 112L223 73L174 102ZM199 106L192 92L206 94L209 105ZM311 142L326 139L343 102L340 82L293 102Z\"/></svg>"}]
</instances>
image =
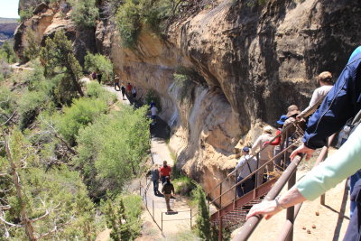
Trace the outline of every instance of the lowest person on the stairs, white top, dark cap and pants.
<instances>
[{"instance_id":1,"label":"lowest person on the stairs, white top, dark cap and pants","mask_svg":"<svg viewBox=\"0 0 361 241\"><path fill-rule=\"evenodd\" d=\"M236 165L236 168L234 171L230 172L228 174L228 177L231 175L236 174L236 171L238 172L238 177L236 177L236 182L242 181L247 177L249 174L251 174L253 171L257 169L257 159L255 157L251 158L249 155L249 147L245 146L242 149L243 157L239 159L238 164ZM245 195L250 190L255 189L255 175L253 175L251 178L248 178L240 185L236 186L236 192L238 198Z\"/></svg>"}]
</instances>

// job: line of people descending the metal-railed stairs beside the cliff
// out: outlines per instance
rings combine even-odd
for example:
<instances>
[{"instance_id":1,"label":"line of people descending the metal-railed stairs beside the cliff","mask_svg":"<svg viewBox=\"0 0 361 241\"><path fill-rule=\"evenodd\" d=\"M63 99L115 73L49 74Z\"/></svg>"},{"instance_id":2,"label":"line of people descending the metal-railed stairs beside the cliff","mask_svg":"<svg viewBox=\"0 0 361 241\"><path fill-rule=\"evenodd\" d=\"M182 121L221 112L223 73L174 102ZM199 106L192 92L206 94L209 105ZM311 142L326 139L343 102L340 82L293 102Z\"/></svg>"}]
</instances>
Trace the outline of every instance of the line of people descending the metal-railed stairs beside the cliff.
<instances>
[{"instance_id":1,"label":"line of people descending the metal-railed stairs beside the cliff","mask_svg":"<svg viewBox=\"0 0 361 241\"><path fill-rule=\"evenodd\" d=\"M333 87L332 74L329 71L320 73L318 82L320 87L314 90L309 107L303 111L300 111L296 105L288 107L287 114L280 116L280 119L276 122L278 128L275 135L273 135L273 127L264 126L263 134L255 140L252 149L247 146L243 148L244 156L236 165L236 169L228 176L239 171L237 172L238 183L252 172L256 171L256 174L236 186L238 197L242 197L248 191L262 185L264 181L271 179L274 170L283 171L290 164L290 155L296 149L296 146L292 144L301 138L302 132L300 130L305 129L307 116L310 115L312 107L318 106L320 100L326 97ZM283 150L283 153L286 154L282 153ZM252 156L250 153L252 153ZM266 178L264 177L265 169L267 170Z\"/></svg>"}]
</instances>

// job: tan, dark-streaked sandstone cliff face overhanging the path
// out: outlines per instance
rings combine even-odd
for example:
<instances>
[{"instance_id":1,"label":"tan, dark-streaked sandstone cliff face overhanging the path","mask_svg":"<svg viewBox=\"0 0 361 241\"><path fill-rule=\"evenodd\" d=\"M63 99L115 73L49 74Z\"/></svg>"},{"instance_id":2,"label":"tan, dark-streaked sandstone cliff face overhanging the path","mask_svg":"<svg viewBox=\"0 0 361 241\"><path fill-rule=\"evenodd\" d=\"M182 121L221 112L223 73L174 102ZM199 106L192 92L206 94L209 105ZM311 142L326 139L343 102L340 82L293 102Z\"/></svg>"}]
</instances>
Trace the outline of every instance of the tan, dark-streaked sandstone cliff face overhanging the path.
<instances>
[{"instance_id":1,"label":"tan, dark-streaked sandstone cliff face overhanging the path","mask_svg":"<svg viewBox=\"0 0 361 241\"><path fill-rule=\"evenodd\" d=\"M55 16L41 15L42 36L73 30ZM132 50L114 23L100 22L84 33L83 48L108 54L141 96L159 94L177 165L211 190L236 164L239 140L254 141L260 125L272 125L291 104L306 107L320 71L338 76L360 43L360 17L361 5L350 0L225 0L172 23L165 38L144 29ZM201 80L176 81L179 67Z\"/></svg>"}]
</instances>

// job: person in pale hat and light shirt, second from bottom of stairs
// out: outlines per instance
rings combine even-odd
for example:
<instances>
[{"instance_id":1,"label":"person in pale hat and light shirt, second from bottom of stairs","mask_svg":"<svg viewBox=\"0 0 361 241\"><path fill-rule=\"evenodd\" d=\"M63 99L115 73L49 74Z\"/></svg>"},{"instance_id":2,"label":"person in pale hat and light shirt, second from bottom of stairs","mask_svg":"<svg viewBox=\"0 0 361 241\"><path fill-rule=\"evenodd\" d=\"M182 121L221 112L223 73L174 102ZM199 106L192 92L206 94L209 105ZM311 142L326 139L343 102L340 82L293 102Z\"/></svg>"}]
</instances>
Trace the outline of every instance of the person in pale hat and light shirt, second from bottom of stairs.
<instances>
[{"instance_id":1,"label":"person in pale hat and light shirt, second from bottom of stairs","mask_svg":"<svg viewBox=\"0 0 361 241\"><path fill-rule=\"evenodd\" d=\"M263 166L264 163L268 162L268 160L270 160L273 156L273 145L270 144L267 145L267 147L264 147L265 142L272 141L273 139L272 131L273 129L271 126L264 126L264 133L257 138L255 144L253 144L252 146L252 153L256 153L256 151L260 151L261 149L264 148L264 150L259 153L259 162L257 168ZM273 171L273 162L267 164L267 171L268 172ZM257 187L260 186L263 183L263 181L264 181L264 167L261 170L257 171L257 181L256 181Z\"/></svg>"}]
</instances>

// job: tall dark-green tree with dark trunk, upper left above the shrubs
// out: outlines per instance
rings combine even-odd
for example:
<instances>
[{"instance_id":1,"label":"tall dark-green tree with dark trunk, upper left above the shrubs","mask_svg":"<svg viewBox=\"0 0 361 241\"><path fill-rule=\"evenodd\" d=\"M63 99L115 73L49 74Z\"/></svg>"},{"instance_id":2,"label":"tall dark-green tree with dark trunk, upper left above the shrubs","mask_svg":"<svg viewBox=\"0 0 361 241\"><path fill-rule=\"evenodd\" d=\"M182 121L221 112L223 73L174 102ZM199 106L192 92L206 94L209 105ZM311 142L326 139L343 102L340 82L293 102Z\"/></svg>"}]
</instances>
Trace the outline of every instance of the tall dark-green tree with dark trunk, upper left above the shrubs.
<instances>
[{"instance_id":1,"label":"tall dark-green tree with dark trunk, upper left above the shrubs","mask_svg":"<svg viewBox=\"0 0 361 241\"><path fill-rule=\"evenodd\" d=\"M40 56L45 77L61 74L57 88L57 96L61 103L70 104L71 99L77 97L77 93L80 97L84 96L80 82L81 67L64 31L56 32L52 39L46 39Z\"/></svg>"}]
</instances>

